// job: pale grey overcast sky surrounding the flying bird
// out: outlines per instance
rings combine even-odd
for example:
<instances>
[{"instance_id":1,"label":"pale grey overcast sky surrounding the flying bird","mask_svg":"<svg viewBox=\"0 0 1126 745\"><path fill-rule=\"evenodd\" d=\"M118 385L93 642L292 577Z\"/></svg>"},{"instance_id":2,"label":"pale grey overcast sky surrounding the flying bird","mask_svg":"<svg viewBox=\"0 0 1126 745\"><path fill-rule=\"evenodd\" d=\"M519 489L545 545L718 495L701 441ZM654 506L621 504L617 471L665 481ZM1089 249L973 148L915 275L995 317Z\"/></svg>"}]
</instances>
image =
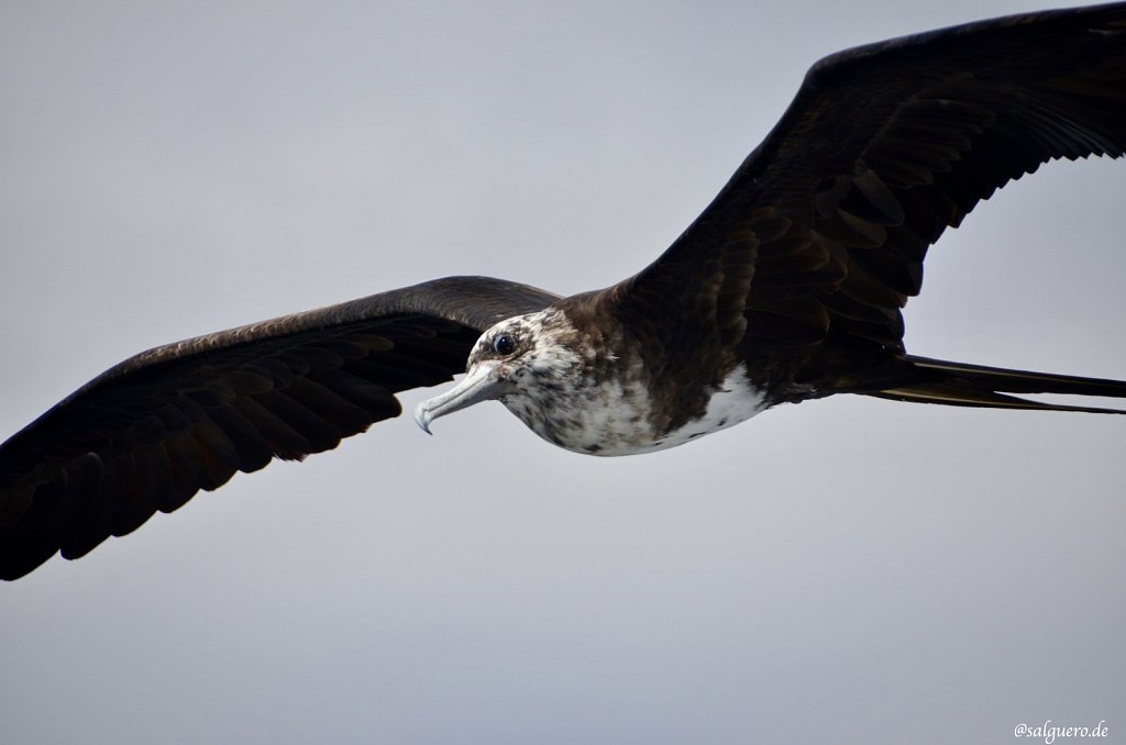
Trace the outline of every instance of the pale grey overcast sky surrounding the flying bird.
<instances>
[{"instance_id":1,"label":"pale grey overcast sky surrounding the flying bird","mask_svg":"<svg viewBox=\"0 0 1126 745\"><path fill-rule=\"evenodd\" d=\"M1049 5L2 3L0 438L180 338L617 281L817 57ZM980 205L909 349L1126 377L1124 194L1081 162ZM435 432L0 587L0 742L1126 742L1123 419L838 397L619 459L497 404Z\"/></svg>"}]
</instances>

